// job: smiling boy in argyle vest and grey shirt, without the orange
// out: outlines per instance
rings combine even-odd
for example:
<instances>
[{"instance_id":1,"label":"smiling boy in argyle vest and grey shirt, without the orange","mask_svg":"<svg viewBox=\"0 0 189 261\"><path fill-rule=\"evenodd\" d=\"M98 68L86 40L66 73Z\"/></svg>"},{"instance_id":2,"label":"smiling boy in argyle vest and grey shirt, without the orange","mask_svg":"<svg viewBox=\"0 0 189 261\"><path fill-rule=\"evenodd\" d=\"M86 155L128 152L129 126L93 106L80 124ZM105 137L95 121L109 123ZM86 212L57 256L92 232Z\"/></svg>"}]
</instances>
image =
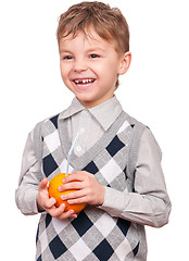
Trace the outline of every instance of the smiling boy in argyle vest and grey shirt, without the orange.
<instances>
[{"instance_id":1,"label":"smiling boy in argyle vest and grey shirt, without the orange","mask_svg":"<svg viewBox=\"0 0 189 261\"><path fill-rule=\"evenodd\" d=\"M168 222L171 202L161 151L149 128L125 113L114 96L129 69L128 25L118 9L81 2L60 17L61 75L74 92L71 107L37 124L23 156L16 203L24 214L41 212L36 260L147 260L144 225ZM65 172L70 204L54 206L48 181Z\"/></svg>"}]
</instances>

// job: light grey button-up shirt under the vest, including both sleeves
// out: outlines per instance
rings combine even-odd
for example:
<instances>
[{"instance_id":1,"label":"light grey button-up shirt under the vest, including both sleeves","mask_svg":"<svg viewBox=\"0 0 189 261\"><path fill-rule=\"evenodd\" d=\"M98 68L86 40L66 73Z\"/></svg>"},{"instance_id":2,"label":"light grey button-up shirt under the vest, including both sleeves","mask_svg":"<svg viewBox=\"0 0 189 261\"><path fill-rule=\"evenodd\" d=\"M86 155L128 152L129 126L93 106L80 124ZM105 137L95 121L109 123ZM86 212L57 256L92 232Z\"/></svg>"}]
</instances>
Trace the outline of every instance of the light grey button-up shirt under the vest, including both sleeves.
<instances>
[{"instance_id":1,"label":"light grey button-up shirt under the vest, including both sleeves","mask_svg":"<svg viewBox=\"0 0 189 261\"><path fill-rule=\"evenodd\" d=\"M60 115L68 119L68 129L72 139L79 130L80 135L74 153L78 157L87 151L111 126L123 111L121 103L113 97L111 100L92 109L86 109L75 98L70 108ZM124 213L128 220L144 225L162 226L167 223L171 201L166 191L161 167L162 153L150 129L142 134L135 172L135 191L125 195L105 187L104 202L100 207L112 215ZM20 187L16 191L16 203L24 214L38 213L36 197L39 181L36 173L40 165L34 150L34 130L29 133L23 154ZM25 192L27 190L27 192ZM153 197L148 195L153 192ZM140 197L143 195L146 197ZM24 200L21 200L21 199ZM158 217L159 216L159 217Z\"/></svg>"}]
</instances>

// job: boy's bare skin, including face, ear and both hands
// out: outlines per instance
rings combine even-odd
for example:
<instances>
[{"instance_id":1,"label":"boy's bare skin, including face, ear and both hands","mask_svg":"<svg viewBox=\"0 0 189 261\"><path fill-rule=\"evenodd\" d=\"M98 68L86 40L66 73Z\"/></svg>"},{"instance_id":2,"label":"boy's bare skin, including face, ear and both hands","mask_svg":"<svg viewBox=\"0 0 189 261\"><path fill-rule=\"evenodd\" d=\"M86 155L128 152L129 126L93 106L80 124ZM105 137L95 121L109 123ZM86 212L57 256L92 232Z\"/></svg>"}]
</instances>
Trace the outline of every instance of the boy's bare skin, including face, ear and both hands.
<instances>
[{"instance_id":1,"label":"boy's bare skin, including face, ear and both hands","mask_svg":"<svg viewBox=\"0 0 189 261\"><path fill-rule=\"evenodd\" d=\"M92 28L89 35L78 32L75 38L67 36L59 44L61 76L65 86L74 92L86 108L99 105L114 96L118 75L125 74L130 65L131 53L117 53L113 42L103 40ZM70 204L92 206L104 202L104 187L94 175L85 171L75 172L63 181L59 190L77 189L62 196ZM48 179L39 184L37 204L39 211L46 210L60 220L76 217L73 210L64 212L65 206L54 206L49 198Z\"/></svg>"}]
</instances>

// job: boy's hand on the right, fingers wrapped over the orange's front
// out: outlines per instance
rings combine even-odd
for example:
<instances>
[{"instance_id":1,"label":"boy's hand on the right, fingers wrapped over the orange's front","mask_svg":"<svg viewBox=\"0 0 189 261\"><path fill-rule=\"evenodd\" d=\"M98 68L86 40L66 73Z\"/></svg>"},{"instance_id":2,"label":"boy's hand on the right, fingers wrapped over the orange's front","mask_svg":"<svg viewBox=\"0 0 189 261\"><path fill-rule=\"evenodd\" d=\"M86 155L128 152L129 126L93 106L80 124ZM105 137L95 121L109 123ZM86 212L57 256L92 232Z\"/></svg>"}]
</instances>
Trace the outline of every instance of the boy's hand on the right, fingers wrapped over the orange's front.
<instances>
[{"instance_id":1,"label":"boy's hand on the right, fingers wrapped over the orange's front","mask_svg":"<svg viewBox=\"0 0 189 261\"><path fill-rule=\"evenodd\" d=\"M102 204L104 201L104 187L98 183L93 174L86 171L78 171L63 179L64 185L59 187L59 191L77 189L77 191L62 195L62 200L67 200L70 204L87 203Z\"/></svg>"}]
</instances>

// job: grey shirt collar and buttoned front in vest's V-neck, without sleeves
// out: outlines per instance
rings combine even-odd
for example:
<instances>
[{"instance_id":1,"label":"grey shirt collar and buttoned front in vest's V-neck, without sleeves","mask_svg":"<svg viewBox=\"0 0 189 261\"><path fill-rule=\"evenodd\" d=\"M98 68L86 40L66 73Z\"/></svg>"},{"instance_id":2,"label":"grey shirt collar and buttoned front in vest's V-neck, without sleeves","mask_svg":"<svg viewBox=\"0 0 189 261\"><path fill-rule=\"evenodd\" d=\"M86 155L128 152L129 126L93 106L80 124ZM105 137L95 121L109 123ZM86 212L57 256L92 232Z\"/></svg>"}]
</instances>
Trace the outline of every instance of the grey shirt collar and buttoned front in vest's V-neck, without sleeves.
<instances>
[{"instance_id":1,"label":"grey shirt collar and buttoned front in vest's V-neck, without sleeves","mask_svg":"<svg viewBox=\"0 0 189 261\"><path fill-rule=\"evenodd\" d=\"M60 120L70 120L68 133L73 141L79 132L76 146L74 147L75 154L79 157L92 147L122 111L122 105L116 97L88 110L75 98L71 107L60 115Z\"/></svg>"}]
</instances>

